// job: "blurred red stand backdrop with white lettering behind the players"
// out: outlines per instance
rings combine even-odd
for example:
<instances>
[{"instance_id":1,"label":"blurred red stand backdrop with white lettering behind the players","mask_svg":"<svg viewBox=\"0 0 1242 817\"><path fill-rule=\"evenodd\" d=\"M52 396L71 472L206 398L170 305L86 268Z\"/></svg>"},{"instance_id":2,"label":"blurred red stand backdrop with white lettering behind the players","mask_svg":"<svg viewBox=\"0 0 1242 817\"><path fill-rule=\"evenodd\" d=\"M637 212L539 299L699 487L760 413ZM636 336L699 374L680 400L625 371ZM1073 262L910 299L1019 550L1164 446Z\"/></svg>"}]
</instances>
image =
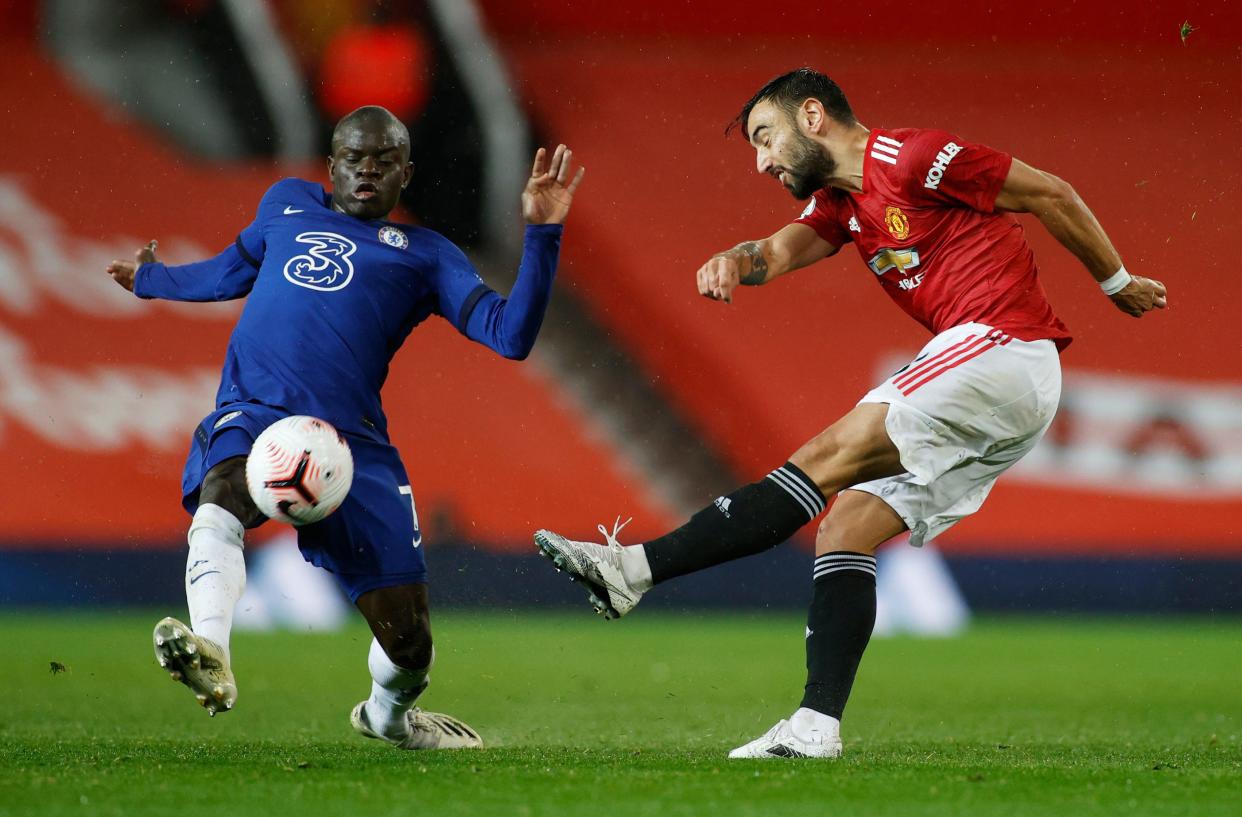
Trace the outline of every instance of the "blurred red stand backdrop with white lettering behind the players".
<instances>
[{"instance_id":1,"label":"blurred red stand backdrop with white lettering behind the players","mask_svg":"<svg viewBox=\"0 0 1242 817\"><path fill-rule=\"evenodd\" d=\"M183 158L72 87L40 52L34 15L5 6L0 548L179 546L178 477L189 435L211 408L235 313L139 304L109 289L103 267L150 237L173 261L214 253L274 179L324 174ZM563 286L739 473L781 462L925 340L850 248L733 307L694 292L707 256L801 209L754 173L753 151L723 128L769 77L810 65L838 81L864 124L944 128L1066 178L1129 268L1170 289L1166 313L1133 322L1027 222L1045 286L1077 338L1063 356L1067 382L1134 384L1136 401L1160 408L1148 420L1171 405L1181 431L1158 441L1156 454L1202 471L1202 482L1160 488L1125 469L1112 482L1076 479L1064 466L1016 473L945 546L1242 553L1242 488L1231 471L1242 462L1242 427L1177 413L1196 395L1236 402L1242 387L1228 296L1242 212L1236 4L1048 11L977 0L835 15L734 0L481 6L533 123L587 166ZM1191 12L1196 30L1182 42ZM677 521L538 351L505 363L438 320L406 346L385 407L428 536L438 524L508 549L528 546L533 528L586 533L616 513L636 517L640 538ZM1107 415L1067 406L1066 422L1076 418L1079 431L1062 430L1071 442L1089 438L1093 422L1108 425ZM1139 433L1148 420L1124 422ZM1131 454L1135 473L1148 453ZM1048 473L1067 476L1058 483Z\"/></svg>"}]
</instances>

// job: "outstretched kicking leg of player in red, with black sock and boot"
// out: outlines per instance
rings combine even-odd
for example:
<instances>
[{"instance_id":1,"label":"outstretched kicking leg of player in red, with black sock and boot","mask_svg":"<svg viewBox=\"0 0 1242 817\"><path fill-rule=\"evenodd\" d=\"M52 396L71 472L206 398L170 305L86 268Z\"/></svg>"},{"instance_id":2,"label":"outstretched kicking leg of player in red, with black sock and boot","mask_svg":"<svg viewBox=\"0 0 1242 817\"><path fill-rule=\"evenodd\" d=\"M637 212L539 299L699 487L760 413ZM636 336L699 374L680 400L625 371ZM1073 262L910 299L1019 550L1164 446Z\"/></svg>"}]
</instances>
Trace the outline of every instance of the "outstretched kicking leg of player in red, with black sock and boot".
<instances>
[{"instance_id":1,"label":"outstretched kicking leg of player in red, with black sock and boot","mask_svg":"<svg viewBox=\"0 0 1242 817\"><path fill-rule=\"evenodd\" d=\"M853 408L759 482L719 497L689 521L641 545L566 539L550 530L535 544L560 570L582 582L596 610L616 618L652 586L786 541L823 512L827 497L859 482L902 473L888 438L888 406Z\"/></svg>"}]
</instances>

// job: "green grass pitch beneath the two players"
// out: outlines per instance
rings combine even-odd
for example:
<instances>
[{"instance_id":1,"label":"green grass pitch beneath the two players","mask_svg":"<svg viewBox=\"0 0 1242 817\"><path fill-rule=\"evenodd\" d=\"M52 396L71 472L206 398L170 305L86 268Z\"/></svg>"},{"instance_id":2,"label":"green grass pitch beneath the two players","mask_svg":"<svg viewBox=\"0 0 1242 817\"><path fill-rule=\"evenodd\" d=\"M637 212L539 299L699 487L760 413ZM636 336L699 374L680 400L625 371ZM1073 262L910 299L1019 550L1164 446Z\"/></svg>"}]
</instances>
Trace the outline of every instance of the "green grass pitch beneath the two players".
<instances>
[{"instance_id":1,"label":"green grass pitch beneath the two players","mask_svg":"<svg viewBox=\"0 0 1242 817\"><path fill-rule=\"evenodd\" d=\"M353 734L361 626L236 636L238 708L209 719L155 666L156 617L0 616L0 816L1242 813L1238 620L874 641L826 762L724 757L796 705L795 616L441 611L421 703L473 752Z\"/></svg>"}]
</instances>

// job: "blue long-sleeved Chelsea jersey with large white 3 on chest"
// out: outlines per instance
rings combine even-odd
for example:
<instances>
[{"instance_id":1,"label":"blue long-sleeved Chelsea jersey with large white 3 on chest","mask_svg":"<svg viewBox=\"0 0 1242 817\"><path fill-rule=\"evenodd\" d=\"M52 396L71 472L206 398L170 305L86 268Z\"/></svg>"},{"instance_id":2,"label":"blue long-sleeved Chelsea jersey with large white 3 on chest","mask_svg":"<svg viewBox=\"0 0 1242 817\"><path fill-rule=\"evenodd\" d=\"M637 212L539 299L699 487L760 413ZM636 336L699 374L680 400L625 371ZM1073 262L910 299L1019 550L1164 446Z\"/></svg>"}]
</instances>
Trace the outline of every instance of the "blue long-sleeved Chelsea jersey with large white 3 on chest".
<instances>
[{"instance_id":1,"label":"blue long-sleeved Chelsea jersey with large white 3 on chest","mask_svg":"<svg viewBox=\"0 0 1242 817\"><path fill-rule=\"evenodd\" d=\"M532 266L533 231L535 243L544 241L534 253L543 263L535 266L546 274L534 282L542 300L534 329L523 329L530 344L550 294L560 227L528 227L518 286ZM258 402L385 441L380 389L414 327L438 314L497 348L491 335L505 323L504 299L447 238L337 212L322 186L299 179L274 184L255 221L216 258L184 267L144 264L139 273L134 292L140 297L226 300L248 292L229 341L217 406ZM479 315L468 330L484 299L492 314Z\"/></svg>"}]
</instances>

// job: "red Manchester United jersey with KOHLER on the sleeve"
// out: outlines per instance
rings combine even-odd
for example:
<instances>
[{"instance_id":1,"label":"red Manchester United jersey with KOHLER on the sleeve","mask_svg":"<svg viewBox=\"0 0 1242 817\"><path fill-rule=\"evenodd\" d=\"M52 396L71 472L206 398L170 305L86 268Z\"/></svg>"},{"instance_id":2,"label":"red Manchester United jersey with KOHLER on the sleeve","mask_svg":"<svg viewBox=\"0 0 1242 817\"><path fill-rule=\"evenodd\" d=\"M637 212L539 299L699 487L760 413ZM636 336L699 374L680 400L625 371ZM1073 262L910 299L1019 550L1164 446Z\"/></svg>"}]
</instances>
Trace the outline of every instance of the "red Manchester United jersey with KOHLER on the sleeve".
<instances>
[{"instance_id":1,"label":"red Manchester United jersey with KOHLER on the sleeve","mask_svg":"<svg viewBox=\"0 0 1242 817\"><path fill-rule=\"evenodd\" d=\"M996 196L1013 158L943 130L872 130L862 192L826 187L796 223L853 241L884 292L934 333L977 322L1020 340L1069 344L1035 255Z\"/></svg>"}]
</instances>

